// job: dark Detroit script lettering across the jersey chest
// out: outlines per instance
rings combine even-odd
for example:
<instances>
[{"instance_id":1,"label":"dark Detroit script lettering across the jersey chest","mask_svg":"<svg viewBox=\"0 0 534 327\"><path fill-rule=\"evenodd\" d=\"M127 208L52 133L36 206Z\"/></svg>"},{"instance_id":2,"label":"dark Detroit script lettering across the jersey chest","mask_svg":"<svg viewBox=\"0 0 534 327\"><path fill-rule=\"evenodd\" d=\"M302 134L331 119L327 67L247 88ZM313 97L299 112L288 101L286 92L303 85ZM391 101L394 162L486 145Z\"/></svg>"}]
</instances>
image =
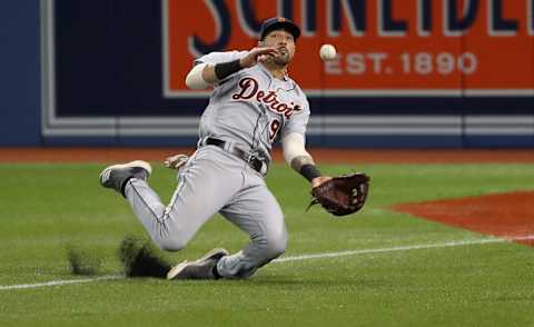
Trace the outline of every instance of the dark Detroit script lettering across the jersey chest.
<instances>
[{"instance_id":1,"label":"dark Detroit script lettering across the jersey chest","mask_svg":"<svg viewBox=\"0 0 534 327\"><path fill-rule=\"evenodd\" d=\"M251 77L245 77L239 80L239 91L231 95L234 100L249 100L256 99L257 101L267 105L270 110L283 113L286 119L289 119L295 111L300 111L303 108L295 102L285 103L278 100L278 95L275 91L265 92L259 90L258 81ZM259 90L259 91L258 91Z\"/></svg>"}]
</instances>

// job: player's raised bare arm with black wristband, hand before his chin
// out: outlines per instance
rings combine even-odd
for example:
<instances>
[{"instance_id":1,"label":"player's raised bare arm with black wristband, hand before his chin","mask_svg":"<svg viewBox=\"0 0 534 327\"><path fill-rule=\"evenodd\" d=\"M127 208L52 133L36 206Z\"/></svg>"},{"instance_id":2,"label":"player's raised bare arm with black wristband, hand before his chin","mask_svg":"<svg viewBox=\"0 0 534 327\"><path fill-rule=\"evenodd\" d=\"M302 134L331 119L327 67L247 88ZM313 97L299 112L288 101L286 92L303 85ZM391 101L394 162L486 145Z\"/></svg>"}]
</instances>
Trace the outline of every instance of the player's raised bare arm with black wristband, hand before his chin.
<instances>
[{"instance_id":1,"label":"player's raised bare arm with black wristband, hand before his chin","mask_svg":"<svg viewBox=\"0 0 534 327\"><path fill-rule=\"evenodd\" d=\"M186 86L192 90L206 89L244 68L255 66L258 61L263 61L267 56L274 56L276 52L276 48L273 47L254 48L241 58L222 62L204 62L202 57L187 75Z\"/></svg>"}]
</instances>

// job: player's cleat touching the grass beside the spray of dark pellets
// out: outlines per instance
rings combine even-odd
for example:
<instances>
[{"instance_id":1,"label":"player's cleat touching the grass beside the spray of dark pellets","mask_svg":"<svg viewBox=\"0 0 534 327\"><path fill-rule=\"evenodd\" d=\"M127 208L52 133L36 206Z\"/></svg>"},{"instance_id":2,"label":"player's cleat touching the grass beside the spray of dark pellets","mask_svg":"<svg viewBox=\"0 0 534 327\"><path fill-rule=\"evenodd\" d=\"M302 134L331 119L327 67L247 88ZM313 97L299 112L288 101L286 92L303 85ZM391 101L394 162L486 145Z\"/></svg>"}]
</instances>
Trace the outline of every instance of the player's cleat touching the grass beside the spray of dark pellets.
<instances>
[{"instance_id":1,"label":"player's cleat touching the grass beside the spray of dark pellets","mask_svg":"<svg viewBox=\"0 0 534 327\"><path fill-rule=\"evenodd\" d=\"M196 261L182 261L167 272L167 279L217 279L214 267L224 256L228 256L228 251L218 248L210 250Z\"/></svg>"}]
</instances>

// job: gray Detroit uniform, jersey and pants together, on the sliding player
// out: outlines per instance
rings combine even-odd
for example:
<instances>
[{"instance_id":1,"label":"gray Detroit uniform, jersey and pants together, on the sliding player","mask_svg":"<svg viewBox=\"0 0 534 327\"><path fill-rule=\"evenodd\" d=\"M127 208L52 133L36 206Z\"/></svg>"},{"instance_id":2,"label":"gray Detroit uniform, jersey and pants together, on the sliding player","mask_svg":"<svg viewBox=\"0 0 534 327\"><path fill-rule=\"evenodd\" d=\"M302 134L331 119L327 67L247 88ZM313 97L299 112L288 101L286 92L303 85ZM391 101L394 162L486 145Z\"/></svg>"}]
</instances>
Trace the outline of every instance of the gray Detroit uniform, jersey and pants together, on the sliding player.
<instances>
[{"instance_id":1,"label":"gray Detroit uniform, jersey and pants together, on the sliding player","mask_svg":"<svg viewBox=\"0 0 534 327\"><path fill-rule=\"evenodd\" d=\"M225 62L246 53L215 52L198 61ZM217 270L246 278L285 251L284 214L264 174L202 140L217 138L270 161L273 142L289 132L304 135L308 117L308 101L295 81L276 79L259 63L241 69L215 86L200 119L199 148L180 168L170 204L144 179L130 179L125 195L152 240L167 250L184 248L215 214L222 215L249 235L250 244L222 257Z\"/></svg>"}]
</instances>

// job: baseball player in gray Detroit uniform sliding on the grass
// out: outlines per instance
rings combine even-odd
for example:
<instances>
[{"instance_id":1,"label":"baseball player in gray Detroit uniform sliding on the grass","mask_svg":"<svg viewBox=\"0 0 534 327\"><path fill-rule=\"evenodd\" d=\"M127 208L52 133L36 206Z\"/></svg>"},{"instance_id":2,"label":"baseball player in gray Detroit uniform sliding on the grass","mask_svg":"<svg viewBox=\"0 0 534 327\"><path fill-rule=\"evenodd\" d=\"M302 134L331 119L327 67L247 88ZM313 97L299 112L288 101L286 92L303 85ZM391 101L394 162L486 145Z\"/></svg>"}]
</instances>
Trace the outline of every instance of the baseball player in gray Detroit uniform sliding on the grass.
<instances>
[{"instance_id":1,"label":"baseball player in gray Detroit uniform sliding on the grass","mask_svg":"<svg viewBox=\"0 0 534 327\"><path fill-rule=\"evenodd\" d=\"M247 278L285 251L284 214L265 182L275 140L281 139L285 160L312 187L330 179L305 149L309 105L287 72L299 36L290 20L271 18L263 22L256 48L211 52L195 61L186 85L214 90L195 153L167 159L168 166L181 166L170 204L164 205L148 185L148 162L115 165L100 174L101 185L130 202L165 250L182 249L216 212L249 235L243 250L214 249L172 267L168 279Z\"/></svg>"}]
</instances>

